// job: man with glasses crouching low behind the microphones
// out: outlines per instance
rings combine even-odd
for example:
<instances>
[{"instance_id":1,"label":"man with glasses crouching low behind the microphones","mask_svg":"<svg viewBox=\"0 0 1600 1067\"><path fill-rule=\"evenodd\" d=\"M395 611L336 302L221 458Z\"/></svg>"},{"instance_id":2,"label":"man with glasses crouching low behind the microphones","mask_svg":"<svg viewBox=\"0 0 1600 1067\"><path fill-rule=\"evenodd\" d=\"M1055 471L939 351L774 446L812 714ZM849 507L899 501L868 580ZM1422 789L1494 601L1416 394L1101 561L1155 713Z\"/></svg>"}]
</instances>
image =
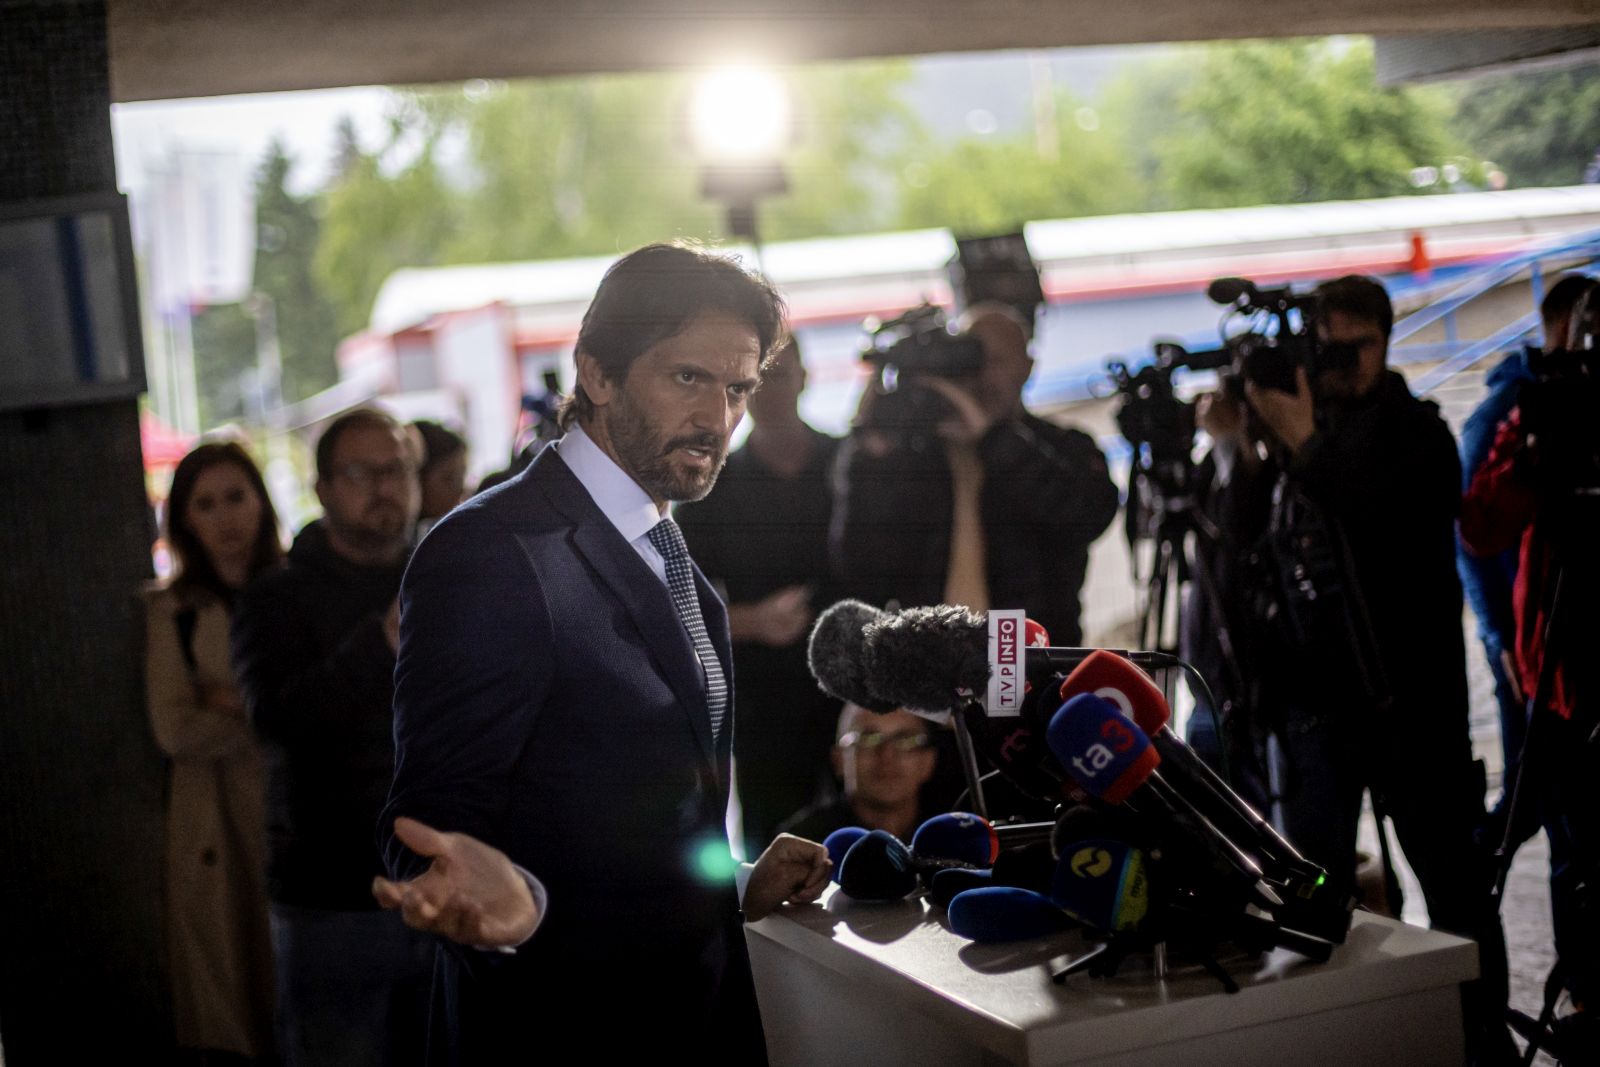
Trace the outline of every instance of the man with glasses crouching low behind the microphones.
<instances>
[{"instance_id":1,"label":"man with glasses crouching low behind the microphones","mask_svg":"<svg viewBox=\"0 0 1600 1067\"><path fill-rule=\"evenodd\" d=\"M821 841L840 827L859 825L909 841L923 821L938 814L922 797L938 758L926 720L907 710L878 715L846 704L834 744L834 773L843 792L798 813L782 829Z\"/></svg>"}]
</instances>

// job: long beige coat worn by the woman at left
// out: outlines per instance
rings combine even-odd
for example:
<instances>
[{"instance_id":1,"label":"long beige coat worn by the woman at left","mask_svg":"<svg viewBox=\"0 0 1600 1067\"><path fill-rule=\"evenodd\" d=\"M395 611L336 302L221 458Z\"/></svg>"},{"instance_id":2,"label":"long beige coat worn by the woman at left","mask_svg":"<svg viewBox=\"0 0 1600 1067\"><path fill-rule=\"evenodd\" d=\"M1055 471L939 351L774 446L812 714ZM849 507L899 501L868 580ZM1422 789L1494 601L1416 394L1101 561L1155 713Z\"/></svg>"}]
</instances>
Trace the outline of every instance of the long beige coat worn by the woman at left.
<instances>
[{"instance_id":1,"label":"long beige coat worn by the woman at left","mask_svg":"<svg viewBox=\"0 0 1600 1067\"><path fill-rule=\"evenodd\" d=\"M262 1056L272 1049L266 798L259 744L243 712L200 702L234 685L227 608L211 595L154 587L149 606L150 725L170 757L166 942L178 1043ZM192 609L184 653L179 616Z\"/></svg>"}]
</instances>

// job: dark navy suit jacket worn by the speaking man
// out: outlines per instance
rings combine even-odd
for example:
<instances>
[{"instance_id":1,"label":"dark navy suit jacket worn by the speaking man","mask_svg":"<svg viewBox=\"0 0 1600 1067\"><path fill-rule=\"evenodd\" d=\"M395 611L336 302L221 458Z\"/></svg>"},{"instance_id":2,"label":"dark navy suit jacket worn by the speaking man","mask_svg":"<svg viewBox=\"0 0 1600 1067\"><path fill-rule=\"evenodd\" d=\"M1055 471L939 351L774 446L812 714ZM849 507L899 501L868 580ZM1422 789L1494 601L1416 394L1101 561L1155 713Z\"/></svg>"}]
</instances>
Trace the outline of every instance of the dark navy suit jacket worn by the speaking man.
<instances>
[{"instance_id":1,"label":"dark navy suit jacket worn by the speaking man","mask_svg":"<svg viewBox=\"0 0 1600 1067\"><path fill-rule=\"evenodd\" d=\"M696 585L731 673L726 611ZM392 837L405 814L549 891L515 957L440 953L435 1059L586 1032L597 1054L763 1057L723 830L730 734L712 739L666 584L555 448L429 533L402 585L386 861L426 867Z\"/></svg>"}]
</instances>

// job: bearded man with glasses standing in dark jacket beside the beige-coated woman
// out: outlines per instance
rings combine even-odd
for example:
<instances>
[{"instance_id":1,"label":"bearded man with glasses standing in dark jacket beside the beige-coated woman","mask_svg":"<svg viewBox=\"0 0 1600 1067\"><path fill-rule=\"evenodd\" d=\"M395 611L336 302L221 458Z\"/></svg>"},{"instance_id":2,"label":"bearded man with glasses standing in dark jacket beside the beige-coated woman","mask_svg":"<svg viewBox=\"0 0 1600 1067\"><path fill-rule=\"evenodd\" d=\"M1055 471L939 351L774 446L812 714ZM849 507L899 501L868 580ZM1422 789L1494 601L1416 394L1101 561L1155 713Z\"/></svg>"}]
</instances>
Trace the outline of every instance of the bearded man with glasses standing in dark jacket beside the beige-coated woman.
<instances>
[{"instance_id":1,"label":"bearded man with glasses standing in dark jacket beside the beige-coated woman","mask_svg":"<svg viewBox=\"0 0 1600 1067\"><path fill-rule=\"evenodd\" d=\"M418 451L382 411L334 419L317 443L323 517L234 611L234 669L269 753L278 1040L296 1067L421 1062L426 1043L432 942L370 893Z\"/></svg>"}]
</instances>

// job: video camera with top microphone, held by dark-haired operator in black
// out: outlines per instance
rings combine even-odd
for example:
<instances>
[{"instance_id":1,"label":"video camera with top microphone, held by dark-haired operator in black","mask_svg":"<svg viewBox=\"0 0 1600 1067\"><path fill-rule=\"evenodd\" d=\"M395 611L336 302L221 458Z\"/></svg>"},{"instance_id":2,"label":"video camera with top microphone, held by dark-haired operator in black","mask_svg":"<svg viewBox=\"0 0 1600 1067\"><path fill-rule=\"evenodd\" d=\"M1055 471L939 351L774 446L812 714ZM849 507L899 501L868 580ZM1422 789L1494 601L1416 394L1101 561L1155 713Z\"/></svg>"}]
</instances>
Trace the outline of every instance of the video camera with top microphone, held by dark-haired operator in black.
<instances>
[{"instance_id":1,"label":"video camera with top microphone, held by dark-haired operator in black","mask_svg":"<svg viewBox=\"0 0 1600 1067\"><path fill-rule=\"evenodd\" d=\"M1206 296L1230 307L1230 315L1251 317L1251 330L1224 341L1232 365L1232 373L1224 376L1226 387L1237 390L1251 382L1258 389L1294 392L1296 368L1304 366L1306 378L1315 381L1323 371L1357 365L1354 344L1317 336L1317 298L1309 293L1288 286L1262 290L1250 278L1216 278L1206 286Z\"/></svg>"}]
</instances>

